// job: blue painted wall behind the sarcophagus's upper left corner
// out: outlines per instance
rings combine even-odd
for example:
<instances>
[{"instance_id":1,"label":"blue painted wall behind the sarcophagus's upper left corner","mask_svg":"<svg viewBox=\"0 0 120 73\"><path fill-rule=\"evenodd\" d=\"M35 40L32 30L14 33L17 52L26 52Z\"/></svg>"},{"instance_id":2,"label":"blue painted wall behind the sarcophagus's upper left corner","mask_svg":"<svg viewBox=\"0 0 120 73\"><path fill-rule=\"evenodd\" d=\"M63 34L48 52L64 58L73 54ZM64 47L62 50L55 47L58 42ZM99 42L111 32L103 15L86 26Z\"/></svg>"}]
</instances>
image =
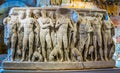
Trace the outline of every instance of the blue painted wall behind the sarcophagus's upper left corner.
<instances>
[{"instance_id":1,"label":"blue painted wall behind the sarcophagus's upper left corner","mask_svg":"<svg viewBox=\"0 0 120 73\"><path fill-rule=\"evenodd\" d=\"M44 7L46 4L50 5L50 0L4 0L2 2L0 5L0 25L12 7Z\"/></svg>"}]
</instances>

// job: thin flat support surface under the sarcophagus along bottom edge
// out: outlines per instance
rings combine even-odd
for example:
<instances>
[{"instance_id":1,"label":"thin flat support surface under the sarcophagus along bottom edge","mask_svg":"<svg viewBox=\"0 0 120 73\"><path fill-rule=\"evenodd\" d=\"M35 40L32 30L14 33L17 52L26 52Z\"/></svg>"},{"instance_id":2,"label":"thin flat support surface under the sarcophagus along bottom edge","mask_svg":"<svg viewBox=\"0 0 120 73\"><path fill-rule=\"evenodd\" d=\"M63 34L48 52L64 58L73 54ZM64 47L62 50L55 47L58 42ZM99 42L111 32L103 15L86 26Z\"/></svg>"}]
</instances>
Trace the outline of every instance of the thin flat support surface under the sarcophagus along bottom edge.
<instances>
[{"instance_id":1,"label":"thin flat support surface under the sarcophagus along bottom edge","mask_svg":"<svg viewBox=\"0 0 120 73\"><path fill-rule=\"evenodd\" d=\"M120 69L94 69L94 70L3 70L2 73L120 73Z\"/></svg>"}]
</instances>

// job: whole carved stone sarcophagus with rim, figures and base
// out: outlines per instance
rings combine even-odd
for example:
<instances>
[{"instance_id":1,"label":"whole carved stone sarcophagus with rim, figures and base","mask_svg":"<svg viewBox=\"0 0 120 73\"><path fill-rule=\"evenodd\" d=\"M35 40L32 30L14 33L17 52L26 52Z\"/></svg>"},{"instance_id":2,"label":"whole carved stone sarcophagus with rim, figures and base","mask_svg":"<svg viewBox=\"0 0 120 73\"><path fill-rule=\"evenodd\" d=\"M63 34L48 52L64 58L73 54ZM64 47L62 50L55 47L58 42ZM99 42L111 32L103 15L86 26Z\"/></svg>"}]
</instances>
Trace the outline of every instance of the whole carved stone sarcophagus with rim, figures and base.
<instances>
[{"instance_id":1,"label":"whole carved stone sarcophagus with rim, figures and base","mask_svg":"<svg viewBox=\"0 0 120 73\"><path fill-rule=\"evenodd\" d=\"M13 8L3 21L11 54L4 69L114 67L114 26L105 10Z\"/></svg>"}]
</instances>

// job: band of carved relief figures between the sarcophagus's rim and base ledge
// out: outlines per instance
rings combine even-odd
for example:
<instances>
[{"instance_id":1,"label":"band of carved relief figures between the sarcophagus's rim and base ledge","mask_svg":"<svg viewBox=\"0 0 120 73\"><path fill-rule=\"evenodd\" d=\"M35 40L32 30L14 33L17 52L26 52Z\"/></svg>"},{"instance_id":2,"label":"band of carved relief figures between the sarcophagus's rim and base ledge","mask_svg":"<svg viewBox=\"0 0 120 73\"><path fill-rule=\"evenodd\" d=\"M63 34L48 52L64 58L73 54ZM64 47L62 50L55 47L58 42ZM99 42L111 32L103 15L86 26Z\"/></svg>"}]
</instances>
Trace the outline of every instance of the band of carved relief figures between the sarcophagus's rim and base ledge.
<instances>
[{"instance_id":1,"label":"band of carved relief figures between the sarcophagus's rim and base ledge","mask_svg":"<svg viewBox=\"0 0 120 73\"><path fill-rule=\"evenodd\" d=\"M53 3L54 4L54 3ZM102 13L81 15L75 22L71 12L25 9L12 12L3 21L9 29L7 45L12 61L89 62L110 61L115 45L114 26Z\"/></svg>"}]
</instances>

